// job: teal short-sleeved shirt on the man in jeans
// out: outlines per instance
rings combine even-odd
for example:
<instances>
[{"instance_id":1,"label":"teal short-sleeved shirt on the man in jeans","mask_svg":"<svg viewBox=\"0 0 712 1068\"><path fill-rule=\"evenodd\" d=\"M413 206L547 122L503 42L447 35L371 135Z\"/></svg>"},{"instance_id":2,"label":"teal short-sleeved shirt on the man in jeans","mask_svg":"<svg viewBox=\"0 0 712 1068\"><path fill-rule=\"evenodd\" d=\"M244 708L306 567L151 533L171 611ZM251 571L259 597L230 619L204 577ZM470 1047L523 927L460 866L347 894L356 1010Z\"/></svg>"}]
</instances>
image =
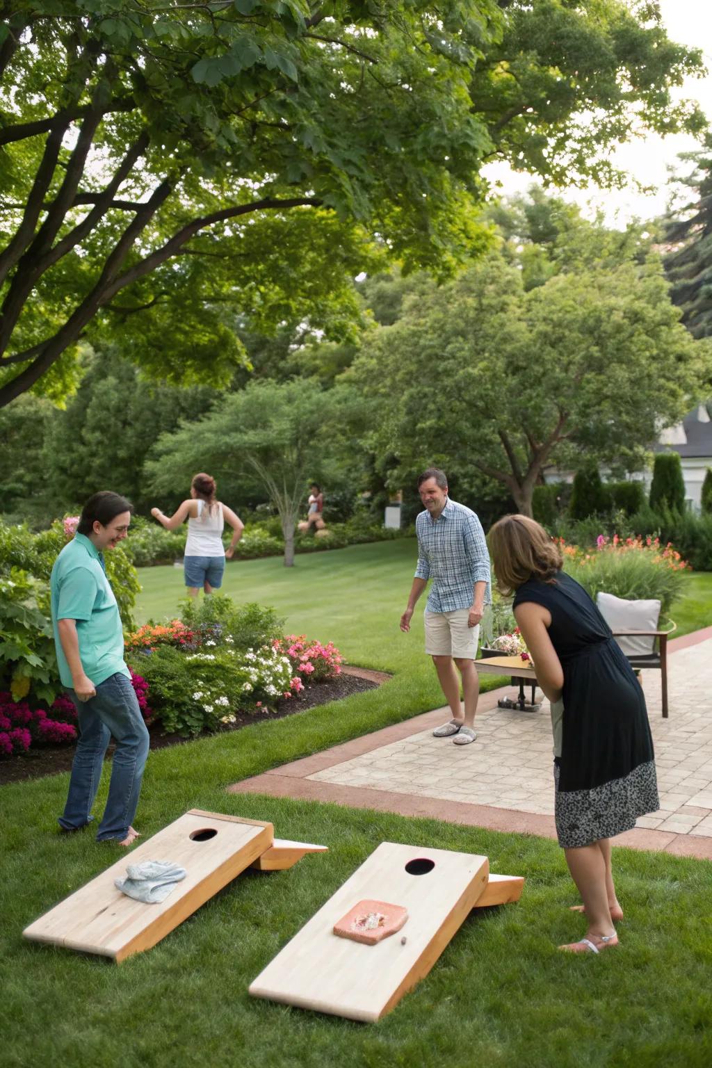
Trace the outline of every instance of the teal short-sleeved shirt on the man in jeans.
<instances>
[{"instance_id":1,"label":"teal short-sleeved shirt on the man in jeans","mask_svg":"<svg viewBox=\"0 0 712 1068\"><path fill-rule=\"evenodd\" d=\"M50 578L54 645L63 686L72 688L69 665L57 624L75 619L79 657L94 686L116 673L130 678L124 661L124 630L104 556L83 534L75 534L54 561Z\"/></svg>"}]
</instances>

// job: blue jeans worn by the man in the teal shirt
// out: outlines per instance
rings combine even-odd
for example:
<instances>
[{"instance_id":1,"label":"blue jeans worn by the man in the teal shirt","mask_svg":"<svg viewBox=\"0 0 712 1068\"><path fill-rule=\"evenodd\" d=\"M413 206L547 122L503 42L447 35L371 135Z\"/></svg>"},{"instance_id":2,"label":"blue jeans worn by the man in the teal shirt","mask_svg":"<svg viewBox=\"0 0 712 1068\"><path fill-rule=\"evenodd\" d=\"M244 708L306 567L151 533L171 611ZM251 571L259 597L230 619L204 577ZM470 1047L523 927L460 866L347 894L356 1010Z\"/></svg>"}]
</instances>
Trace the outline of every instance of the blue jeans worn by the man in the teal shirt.
<instances>
[{"instance_id":1,"label":"blue jeans worn by the man in the teal shirt","mask_svg":"<svg viewBox=\"0 0 712 1068\"><path fill-rule=\"evenodd\" d=\"M77 709L80 734L60 826L65 831L78 831L93 819L91 812L99 788L104 755L113 735L116 750L109 797L96 841L122 842L136 815L148 755L148 732L131 680L118 673L111 675L99 682L96 696L89 701L79 701L74 690L67 693Z\"/></svg>"}]
</instances>

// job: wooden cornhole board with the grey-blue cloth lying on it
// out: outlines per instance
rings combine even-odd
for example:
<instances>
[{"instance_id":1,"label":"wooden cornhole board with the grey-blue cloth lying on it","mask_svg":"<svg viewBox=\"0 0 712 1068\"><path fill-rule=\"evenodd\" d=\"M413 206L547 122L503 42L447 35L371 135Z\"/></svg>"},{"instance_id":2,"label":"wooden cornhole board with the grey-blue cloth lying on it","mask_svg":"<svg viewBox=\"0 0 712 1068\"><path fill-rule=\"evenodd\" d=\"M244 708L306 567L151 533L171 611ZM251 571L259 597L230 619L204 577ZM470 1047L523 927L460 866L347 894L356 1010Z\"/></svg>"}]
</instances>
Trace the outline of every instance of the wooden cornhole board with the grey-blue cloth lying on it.
<instances>
[{"instance_id":1,"label":"wooden cornhole board with the grey-blue cloth lying on it","mask_svg":"<svg viewBox=\"0 0 712 1068\"><path fill-rule=\"evenodd\" d=\"M247 867L279 870L323 846L282 842L271 823L192 808L60 901L22 931L34 942L114 960L149 949ZM186 878L158 905L135 901L114 886L128 864L170 860Z\"/></svg>"}]
</instances>

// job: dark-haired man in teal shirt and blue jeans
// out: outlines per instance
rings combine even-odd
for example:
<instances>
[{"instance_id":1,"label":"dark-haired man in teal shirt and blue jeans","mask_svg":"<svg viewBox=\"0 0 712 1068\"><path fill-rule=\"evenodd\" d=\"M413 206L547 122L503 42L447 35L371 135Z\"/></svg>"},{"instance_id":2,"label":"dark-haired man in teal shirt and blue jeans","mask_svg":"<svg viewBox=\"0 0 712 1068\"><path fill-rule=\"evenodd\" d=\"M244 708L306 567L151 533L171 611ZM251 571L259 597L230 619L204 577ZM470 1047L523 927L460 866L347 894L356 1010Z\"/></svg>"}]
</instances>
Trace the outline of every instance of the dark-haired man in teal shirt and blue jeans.
<instances>
[{"instance_id":1,"label":"dark-haired man in teal shirt and blue jeans","mask_svg":"<svg viewBox=\"0 0 712 1068\"><path fill-rule=\"evenodd\" d=\"M106 576L104 551L128 532L131 505L118 493L95 493L77 533L54 562L50 580L52 626L60 678L77 709L79 740L60 826L78 831L93 816L104 756L116 741L109 797L97 842L130 846L131 827L148 754L148 732L124 661L118 606Z\"/></svg>"}]
</instances>

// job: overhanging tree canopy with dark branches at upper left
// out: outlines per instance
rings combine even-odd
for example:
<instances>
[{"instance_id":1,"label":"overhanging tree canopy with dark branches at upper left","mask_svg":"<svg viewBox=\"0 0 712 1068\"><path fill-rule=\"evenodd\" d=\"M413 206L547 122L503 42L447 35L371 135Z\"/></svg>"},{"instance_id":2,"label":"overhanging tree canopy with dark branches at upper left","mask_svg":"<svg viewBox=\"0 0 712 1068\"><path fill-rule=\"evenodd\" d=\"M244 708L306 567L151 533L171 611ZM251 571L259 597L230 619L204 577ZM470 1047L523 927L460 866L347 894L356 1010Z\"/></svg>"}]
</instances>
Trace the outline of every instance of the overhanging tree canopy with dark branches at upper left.
<instances>
[{"instance_id":1,"label":"overhanging tree canopy with dark branches at upper left","mask_svg":"<svg viewBox=\"0 0 712 1068\"><path fill-rule=\"evenodd\" d=\"M354 312L366 235L441 273L481 247L485 161L616 180L613 143L701 122L670 98L699 54L649 2L0 10L0 406L41 381L63 395L96 334L154 373L225 381L231 315Z\"/></svg>"}]
</instances>

